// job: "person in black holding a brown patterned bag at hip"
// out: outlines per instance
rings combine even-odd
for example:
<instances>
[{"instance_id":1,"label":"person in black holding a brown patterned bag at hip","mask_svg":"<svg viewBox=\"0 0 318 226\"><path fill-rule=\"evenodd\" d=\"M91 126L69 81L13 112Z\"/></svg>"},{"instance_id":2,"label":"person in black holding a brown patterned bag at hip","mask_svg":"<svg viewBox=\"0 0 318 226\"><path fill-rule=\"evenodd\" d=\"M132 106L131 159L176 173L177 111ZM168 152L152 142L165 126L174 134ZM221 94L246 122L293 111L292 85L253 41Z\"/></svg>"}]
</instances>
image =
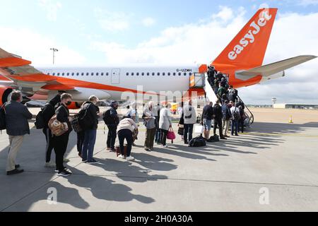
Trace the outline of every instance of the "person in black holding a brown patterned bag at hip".
<instances>
[{"instance_id":1,"label":"person in black holding a brown patterned bag at hip","mask_svg":"<svg viewBox=\"0 0 318 226\"><path fill-rule=\"evenodd\" d=\"M69 116L69 109L67 108L67 104L69 104L72 100L72 96L68 93L64 93L61 95L61 103L57 106L55 110L57 114L57 120L62 124L67 124L67 128L60 136L54 136L52 138L54 151L55 151L55 160L57 164L57 169L55 170L58 176L67 177L71 175L71 171L66 169L63 165L64 155L66 153L67 145L69 143L69 133L71 133L71 117Z\"/></svg>"}]
</instances>

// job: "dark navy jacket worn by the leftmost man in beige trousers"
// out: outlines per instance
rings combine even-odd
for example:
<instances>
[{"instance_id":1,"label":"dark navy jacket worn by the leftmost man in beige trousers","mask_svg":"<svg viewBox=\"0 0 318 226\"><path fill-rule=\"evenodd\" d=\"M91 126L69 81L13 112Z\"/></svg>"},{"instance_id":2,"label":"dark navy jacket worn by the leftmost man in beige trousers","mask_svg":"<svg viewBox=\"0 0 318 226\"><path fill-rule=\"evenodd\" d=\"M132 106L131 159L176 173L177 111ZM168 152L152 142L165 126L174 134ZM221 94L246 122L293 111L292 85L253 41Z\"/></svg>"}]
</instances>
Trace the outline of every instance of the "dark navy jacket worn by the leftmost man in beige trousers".
<instances>
[{"instance_id":1,"label":"dark navy jacket worn by the leftmost man in beige trousers","mask_svg":"<svg viewBox=\"0 0 318 226\"><path fill-rule=\"evenodd\" d=\"M10 136L24 136L30 134L28 119L33 115L29 112L28 107L20 102L11 101L5 105L6 111L6 133Z\"/></svg>"}]
</instances>

